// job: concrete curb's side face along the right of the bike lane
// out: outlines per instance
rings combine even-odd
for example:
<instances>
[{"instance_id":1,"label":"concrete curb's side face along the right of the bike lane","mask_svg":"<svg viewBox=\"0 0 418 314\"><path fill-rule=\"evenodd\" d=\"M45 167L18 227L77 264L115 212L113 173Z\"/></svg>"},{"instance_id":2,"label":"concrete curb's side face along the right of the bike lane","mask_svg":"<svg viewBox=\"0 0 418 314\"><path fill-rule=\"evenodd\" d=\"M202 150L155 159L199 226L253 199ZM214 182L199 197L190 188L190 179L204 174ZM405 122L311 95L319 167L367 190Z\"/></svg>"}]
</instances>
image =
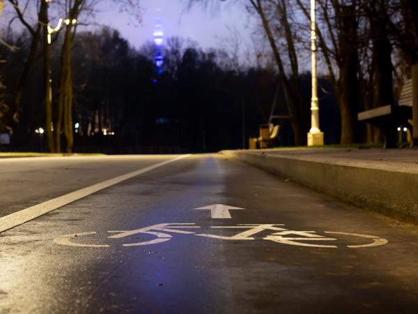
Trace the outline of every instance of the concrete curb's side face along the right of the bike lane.
<instances>
[{"instance_id":1,"label":"concrete curb's side face along the right of the bike lane","mask_svg":"<svg viewBox=\"0 0 418 314\"><path fill-rule=\"evenodd\" d=\"M254 151L221 151L221 154L359 207L418 224L417 173L272 156Z\"/></svg>"}]
</instances>

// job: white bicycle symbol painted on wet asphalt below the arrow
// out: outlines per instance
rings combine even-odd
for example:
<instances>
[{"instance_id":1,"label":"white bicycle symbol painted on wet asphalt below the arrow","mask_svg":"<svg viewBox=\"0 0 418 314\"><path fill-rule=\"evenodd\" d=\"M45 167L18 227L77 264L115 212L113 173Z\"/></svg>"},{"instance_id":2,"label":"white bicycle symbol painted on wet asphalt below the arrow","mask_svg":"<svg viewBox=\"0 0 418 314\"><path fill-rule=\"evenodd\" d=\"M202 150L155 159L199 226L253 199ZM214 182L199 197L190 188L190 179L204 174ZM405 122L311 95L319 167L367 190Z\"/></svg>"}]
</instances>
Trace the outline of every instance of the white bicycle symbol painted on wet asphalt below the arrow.
<instances>
[{"instance_id":1,"label":"white bicycle symbol painted on wet asphalt below the arrow","mask_svg":"<svg viewBox=\"0 0 418 314\"><path fill-rule=\"evenodd\" d=\"M194 223L160 223L157 225L150 225L148 227L143 227L135 230L118 230L118 231L108 231L108 233L115 233L107 237L107 239L123 239L125 237L130 237L134 234L151 234L155 236L155 239L150 241L139 241L128 244L122 244L123 246L147 246L150 244L159 244L166 242L172 239L172 235L167 233L179 233L179 234L194 234L198 237L208 237L212 239L222 239L228 241L239 241L239 240L255 240L254 235L264 232L264 231L273 231L272 234L269 234L266 237L263 237L263 240L274 241L279 244L288 244L292 246L308 246L314 248L338 248L338 246L329 245L329 244L318 244L320 241L336 241L338 239L334 237L325 237L320 234L316 234L316 231L300 231L300 230L288 230L283 227L283 224L239 224L233 226L212 226L212 229L246 229L243 232L239 232L230 237L220 236L217 234L205 234L205 233L196 233L192 231L179 230L179 229L192 229L200 228ZM364 239L370 239L371 243L367 244L358 244L358 245L348 245L348 248L370 248L373 246L382 246L388 243L387 239L382 237L377 237L369 234L358 234L350 232L334 232L334 231L325 231L325 234L336 234L350 237L360 237ZM61 237L54 239L56 244L61 244L64 246L79 246L85 248L109 248L108 244L82 244L78 242L73 242L71 239L77 237L85 237L88 235L97 234L97 232L81 232L77 234L65 234ZM305 243L309 242L309 243Z\"/></svg>"}]
</instances>

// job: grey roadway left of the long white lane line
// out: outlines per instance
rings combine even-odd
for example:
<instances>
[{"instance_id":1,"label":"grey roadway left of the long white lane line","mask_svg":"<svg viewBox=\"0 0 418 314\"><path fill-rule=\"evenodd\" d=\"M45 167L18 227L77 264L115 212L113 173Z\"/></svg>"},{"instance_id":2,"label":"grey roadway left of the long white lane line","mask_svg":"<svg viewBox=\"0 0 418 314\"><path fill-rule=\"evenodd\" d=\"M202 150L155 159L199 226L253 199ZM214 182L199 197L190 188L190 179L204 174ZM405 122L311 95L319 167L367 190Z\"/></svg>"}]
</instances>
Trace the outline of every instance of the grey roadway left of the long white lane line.
<instances>
[{"instance_id":1,"label":"grey roadway left of the long white lane line","mask_svg":"<svg viewBox=\"0 0 418 314\"><path fill-rule=\"evenodd\" d=\"M174 156L0 159L0 217Z\"/></svg>"}]
</instances>

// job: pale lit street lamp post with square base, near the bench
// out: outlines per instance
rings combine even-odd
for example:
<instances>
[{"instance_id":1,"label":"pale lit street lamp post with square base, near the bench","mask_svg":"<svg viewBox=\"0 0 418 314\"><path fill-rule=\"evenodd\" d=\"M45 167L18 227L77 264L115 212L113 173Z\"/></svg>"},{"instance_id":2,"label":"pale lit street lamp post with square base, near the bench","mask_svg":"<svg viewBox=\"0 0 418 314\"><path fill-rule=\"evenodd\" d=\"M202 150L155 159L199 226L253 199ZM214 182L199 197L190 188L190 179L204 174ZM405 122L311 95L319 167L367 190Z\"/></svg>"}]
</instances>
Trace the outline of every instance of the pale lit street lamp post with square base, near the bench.
<instances>
[{"instance_id":1,"label":"pale lit street lamp post with square base, near the bench","mask_svg":"<svg viewBox=\"0 0 418 314\"><path fill-rule=\"evenodd\" d=\"M308 133L308 146L323 146L324 133L319 129L318 79L316 75L316 13L315 0L311 0L311 50L312 50L312 98L311 130Z\"/></svg>"}]
</instances>

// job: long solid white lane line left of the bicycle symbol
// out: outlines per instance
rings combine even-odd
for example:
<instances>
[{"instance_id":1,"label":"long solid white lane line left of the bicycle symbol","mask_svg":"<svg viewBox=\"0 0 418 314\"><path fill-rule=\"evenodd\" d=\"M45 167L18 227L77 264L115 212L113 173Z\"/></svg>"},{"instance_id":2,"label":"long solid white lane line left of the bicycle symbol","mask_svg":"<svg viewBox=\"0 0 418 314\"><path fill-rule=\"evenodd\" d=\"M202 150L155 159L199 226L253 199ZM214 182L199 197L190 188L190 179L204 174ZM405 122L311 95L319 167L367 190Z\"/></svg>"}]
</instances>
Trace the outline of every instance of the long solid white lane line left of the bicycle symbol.
<instances>
[{"instance_id":1,"label":"long solid white lane line left of the bicycle symbol","mask_svg":"<svg viewBox=\"0 0 418 314\"><path fill-rule=\"evenodd\" d=\"M132 177L136 177L139 174L143 174L150 170L154 170L157 167L162 167L163 165L167 165L168 163L173 163L174 161L187 158L190 154L178 156L176 158L163 161L162 163L157 163L155 165L150 165L148 167L129 172L127 174L123 174L119 177L115 177L113 179L109 179L98 184L93 184L93 186L87 186L86 188L82 188L80 190L76 190L74 192L62 195L60 197L56 197L52 200L48 200L46 202L37 204L32 207L28 207L26 209L22 209L21 211L17 211L13 214L4 216L0 218L0 233L11 228L17 227L18 225L22 225L23 223L27 223L30 220L38 218L39 216L45 215L50 211L54 211L55 209L59 209L67 204L75 202L76 200L80 200L83 197L91 195L93 193L98 192L99 190L103 190L104 188L109 188L109 186L114 186L115 184L121 183L127 179Z\"/></svg>"}]
</instances>

